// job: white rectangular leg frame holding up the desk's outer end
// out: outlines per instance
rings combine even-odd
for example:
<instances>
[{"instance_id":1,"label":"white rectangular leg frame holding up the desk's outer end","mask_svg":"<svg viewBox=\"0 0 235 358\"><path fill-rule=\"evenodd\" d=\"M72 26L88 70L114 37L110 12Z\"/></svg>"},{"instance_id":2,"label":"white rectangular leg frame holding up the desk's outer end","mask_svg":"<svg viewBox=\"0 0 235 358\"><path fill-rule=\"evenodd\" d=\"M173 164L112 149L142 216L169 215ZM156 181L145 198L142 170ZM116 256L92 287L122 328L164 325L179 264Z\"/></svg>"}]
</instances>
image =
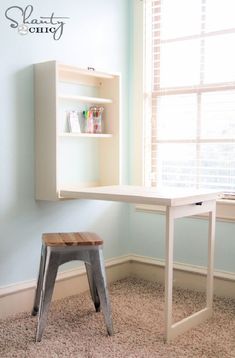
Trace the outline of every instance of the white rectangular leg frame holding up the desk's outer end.
<instances>
[{"instance_id":1,"label":"white rectangular leg frame holding up the desk's outer end","mask_svg":"<svg viewBox=\"0 0 235 358\"><path fill-rule=\"evenodd\" d=\"M166 247L165 247L165 341L169 342L177 335L195 327L212 315L213 303L213 271L214 271L214 240L215 240L215 201L208 203L205 212L209 212L208 230L208 269L206 285L206 307L189 317L172 325L172 285L173 285L173 251L174 251L174 220L190 215L191 208L168 207L166 211ZM196 210L196 209L195 209ZM193 210L192 210L192 213ZM191 213L191 214L192 214Z\"/></svg>"}]
</instances>

